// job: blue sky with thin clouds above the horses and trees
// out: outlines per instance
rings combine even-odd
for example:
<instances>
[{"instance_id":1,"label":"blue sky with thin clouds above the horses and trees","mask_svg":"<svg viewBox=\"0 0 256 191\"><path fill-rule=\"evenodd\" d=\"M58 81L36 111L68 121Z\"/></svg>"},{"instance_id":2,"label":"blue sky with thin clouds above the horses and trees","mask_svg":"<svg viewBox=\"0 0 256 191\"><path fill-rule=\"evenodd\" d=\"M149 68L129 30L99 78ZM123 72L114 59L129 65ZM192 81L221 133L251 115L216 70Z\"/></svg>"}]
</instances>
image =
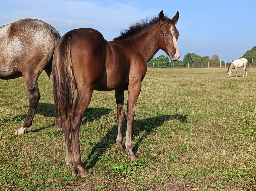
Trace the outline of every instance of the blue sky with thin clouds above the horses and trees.
<instances>
[{"instance_id":1,"label":"blue sky with thin clouds above the horses and trees","mask_svg":"<svg viewBox=\"0 0 256 191\"><path fill-rule=\"evenodd\" d=\"M230 62L256 46L255 7L255 0L8 0L0 6L0 25L35 18L51 24L61 36L75 28L94 28L110 41L140 19L161 10L172 18L179 11L179 60L195 53L210 58L217 54ZM155 57L159 55L166 56L163 51Z\"/></svg>"}]
</instances>

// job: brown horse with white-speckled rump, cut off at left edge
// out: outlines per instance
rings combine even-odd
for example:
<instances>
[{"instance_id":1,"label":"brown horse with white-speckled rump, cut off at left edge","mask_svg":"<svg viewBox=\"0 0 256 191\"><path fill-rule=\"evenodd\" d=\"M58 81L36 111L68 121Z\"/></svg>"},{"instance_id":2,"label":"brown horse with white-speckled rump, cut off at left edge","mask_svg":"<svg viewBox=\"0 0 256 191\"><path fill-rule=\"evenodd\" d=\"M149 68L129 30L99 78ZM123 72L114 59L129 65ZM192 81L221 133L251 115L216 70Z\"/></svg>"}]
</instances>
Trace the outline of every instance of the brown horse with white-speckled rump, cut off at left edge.
<instances>
[{"instance_id":1,"label":"brown horse with white-speckled rump, cut off at left edge","mask_svg":"<svg viewBox=\"0 0 256 191\"><path fill-rule=\"evenodd\" d=\"M53 53L59 39L51 25L37 19L20 19L0 26L0 79L23 76L29 100L24 124L15 134L24 134L31 128L40 99L37 80L45 70L52 81Z\"/></svg>"}]
</instances>

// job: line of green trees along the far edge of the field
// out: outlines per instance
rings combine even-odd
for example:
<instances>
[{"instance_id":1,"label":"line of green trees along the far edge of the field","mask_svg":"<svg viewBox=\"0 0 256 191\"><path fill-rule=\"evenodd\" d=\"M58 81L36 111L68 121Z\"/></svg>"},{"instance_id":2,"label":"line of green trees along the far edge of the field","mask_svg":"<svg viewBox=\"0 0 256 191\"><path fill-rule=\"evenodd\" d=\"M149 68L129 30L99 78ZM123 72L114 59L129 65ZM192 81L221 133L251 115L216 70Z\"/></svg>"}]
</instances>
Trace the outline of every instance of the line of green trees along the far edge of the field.
<instances>
[{"instance_id":1,"label":"line of green trees along the far edge of the field","mask_svg":"<svg viewBox=\"0 0 256 191\"><path fill-rule=\"evenodd\" d=\"M253 47L251 50L246 51L246 53L240 57L240 58L246 58L248 60L248 63L251 62L251 60L253 59L254 62L256 62L256 46ZM172 65L169 60L169 57L167 56L159 56L157 58L152 58L148 64L147 67L156 67L156 68L170 68L170 67L183 67L186 68L188 66L189 63L189 67L191 68L204 68L207 67L209 62L209 67L212 64L212 62L215 63L217 62L218 67L220 66L220 58L218 55L214 54L211 58L209 58L209 56L204 56L201 57L195 53L187 53L183 60L180 61L176 61L174 62L174 65ZM230 63L226 62L226 66L228 66ZM225 61L221 61L221 66L225 65Z\"/></svg>"}]
</instances>

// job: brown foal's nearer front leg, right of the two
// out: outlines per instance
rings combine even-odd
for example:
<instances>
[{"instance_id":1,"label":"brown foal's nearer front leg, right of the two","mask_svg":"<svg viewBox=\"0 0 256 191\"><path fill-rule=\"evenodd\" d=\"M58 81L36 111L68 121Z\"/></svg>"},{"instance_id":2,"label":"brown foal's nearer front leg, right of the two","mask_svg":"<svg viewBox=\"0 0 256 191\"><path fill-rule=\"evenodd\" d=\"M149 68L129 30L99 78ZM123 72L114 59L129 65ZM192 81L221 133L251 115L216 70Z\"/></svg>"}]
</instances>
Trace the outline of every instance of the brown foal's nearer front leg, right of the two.
<instances>
[{"instance_id":1,"label":"brown foal's nearer front leg, right of the two","mask_svg":"<svg viewBox=\"0 0 256 191\"><path fill-rule=\"evenodd\" d=\"M135 116L135 106L141 91L141 81L136 78L130 80L128 87L128 100L127 100L127 129L125 147L128 152L130 161L137 160L135 154L132 152L132 125Z\"/></svg>"}]
</instances>

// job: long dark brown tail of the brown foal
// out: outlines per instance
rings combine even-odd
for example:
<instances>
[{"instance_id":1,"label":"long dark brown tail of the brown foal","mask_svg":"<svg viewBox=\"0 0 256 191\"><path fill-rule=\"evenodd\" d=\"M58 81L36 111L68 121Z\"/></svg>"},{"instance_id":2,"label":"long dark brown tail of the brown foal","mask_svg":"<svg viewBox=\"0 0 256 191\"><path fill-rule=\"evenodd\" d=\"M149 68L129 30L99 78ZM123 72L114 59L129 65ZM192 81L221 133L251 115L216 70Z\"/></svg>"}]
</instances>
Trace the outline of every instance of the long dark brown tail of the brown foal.
<instances>
[{"instance_id":1,"label":"long dark brown tail of the brown foal","mask_svg":"<svg viewBox=\"0 0 256 191\"><path fill-rule=\"evenodd\" d=\"M52 63L53 95L55 109L55 127L59 120L59 128L62 129L61 115L68 114L73 106L76 94L76 81L71 60L71 37L59 40L54 51Z\"/></svg>"}]
</instances>

